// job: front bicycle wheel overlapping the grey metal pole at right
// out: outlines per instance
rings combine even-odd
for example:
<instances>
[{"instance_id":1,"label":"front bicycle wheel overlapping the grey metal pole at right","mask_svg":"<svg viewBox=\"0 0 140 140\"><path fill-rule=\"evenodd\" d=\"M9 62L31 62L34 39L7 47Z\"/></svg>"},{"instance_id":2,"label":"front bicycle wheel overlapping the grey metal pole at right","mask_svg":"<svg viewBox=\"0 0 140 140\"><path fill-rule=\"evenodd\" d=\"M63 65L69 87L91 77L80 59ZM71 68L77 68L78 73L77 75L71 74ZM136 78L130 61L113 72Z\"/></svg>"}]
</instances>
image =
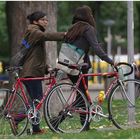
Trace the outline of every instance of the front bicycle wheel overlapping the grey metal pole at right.
<instances>
[{"instance_id":1,"label":"front bicycle wheel overlapping the grey metal pole at right","mask_svg":"<svg viewBox=\"0 0 140 140\"><path fill-rule=\"evenodd\" d=\"M134 95L130 94L132 86L134 86ZM140 81L125 80L123 86L118 83L110 93L108 111L111 121L117 128L138 127L140 125Z\"/></svg>"}]
</instances>

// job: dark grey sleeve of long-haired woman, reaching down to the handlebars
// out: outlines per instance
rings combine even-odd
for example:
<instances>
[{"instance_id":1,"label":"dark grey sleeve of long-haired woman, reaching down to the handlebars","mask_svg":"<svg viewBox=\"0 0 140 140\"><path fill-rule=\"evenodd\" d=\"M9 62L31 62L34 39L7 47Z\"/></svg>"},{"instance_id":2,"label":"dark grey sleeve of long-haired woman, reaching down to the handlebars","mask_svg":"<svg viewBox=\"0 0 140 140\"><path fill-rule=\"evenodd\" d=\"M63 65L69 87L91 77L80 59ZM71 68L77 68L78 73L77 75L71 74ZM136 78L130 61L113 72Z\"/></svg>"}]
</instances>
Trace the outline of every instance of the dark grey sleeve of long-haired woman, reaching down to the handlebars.
<instances>
[{"instance_id":1,"label":"dark grey sleeve of long-haired woman, reaching down to the handlebars","mask_svg":"<svg viewBox=\"0 0 140 140\"><path fill-rule=\"evenodd\" d=\"M107 56L107 54L104 52L104 50L101 48L100 44L97 41L95 29L93 27L89 27L85 31L85 38L89 42L90 47L92 47L93 51L97 56L100 57L100 59L106 61L109 64L114 64L114 61Z\"/></svg>"}]
</instances>

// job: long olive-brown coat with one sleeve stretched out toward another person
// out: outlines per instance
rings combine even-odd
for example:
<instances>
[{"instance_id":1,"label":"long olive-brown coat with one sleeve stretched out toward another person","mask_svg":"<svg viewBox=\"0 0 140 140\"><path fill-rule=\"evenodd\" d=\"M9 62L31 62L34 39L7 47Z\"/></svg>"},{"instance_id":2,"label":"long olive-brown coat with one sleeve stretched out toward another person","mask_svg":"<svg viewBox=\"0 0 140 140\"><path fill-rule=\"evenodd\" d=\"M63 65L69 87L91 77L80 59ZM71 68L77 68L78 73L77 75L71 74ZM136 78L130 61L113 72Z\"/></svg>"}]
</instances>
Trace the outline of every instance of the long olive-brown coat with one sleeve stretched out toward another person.
<instances>
[{"instance_id":1,"label":"long olive-brown coat with one sleeve stretched out toward another person","mask_svg":"<svg viewBox=\"0 0 140 140\"><path fill-rule=\"evenodd\" d=\"M45 41L63 40L64 33L46 33L44 28L30 24L24 38L31 47L24 59L22 77L43 76L46 71Z\"/></svg>"}]
</instances>

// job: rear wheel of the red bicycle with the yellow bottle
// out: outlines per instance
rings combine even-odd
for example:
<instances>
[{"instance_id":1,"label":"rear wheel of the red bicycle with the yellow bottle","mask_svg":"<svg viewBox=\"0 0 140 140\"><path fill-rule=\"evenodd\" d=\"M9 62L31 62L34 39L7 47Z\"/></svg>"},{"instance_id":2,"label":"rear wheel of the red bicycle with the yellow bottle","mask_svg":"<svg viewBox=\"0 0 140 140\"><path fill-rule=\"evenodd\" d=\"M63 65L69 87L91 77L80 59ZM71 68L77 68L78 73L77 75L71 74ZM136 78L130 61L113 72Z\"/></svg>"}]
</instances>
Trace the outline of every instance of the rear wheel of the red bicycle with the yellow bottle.
<instances>
[{"instance_id":1,"label":"rear wheel of the red bicycle with the yellow bottle","mask_svg":"<svg viewBox=\"0 0 140 140\"><path fill-rule=\"evenodd\" d=\"M44 116L54 132L79 133L89 118L88 102L84 94L70 83L55 86L44 104Z\"/></svg>"}]
</instances>

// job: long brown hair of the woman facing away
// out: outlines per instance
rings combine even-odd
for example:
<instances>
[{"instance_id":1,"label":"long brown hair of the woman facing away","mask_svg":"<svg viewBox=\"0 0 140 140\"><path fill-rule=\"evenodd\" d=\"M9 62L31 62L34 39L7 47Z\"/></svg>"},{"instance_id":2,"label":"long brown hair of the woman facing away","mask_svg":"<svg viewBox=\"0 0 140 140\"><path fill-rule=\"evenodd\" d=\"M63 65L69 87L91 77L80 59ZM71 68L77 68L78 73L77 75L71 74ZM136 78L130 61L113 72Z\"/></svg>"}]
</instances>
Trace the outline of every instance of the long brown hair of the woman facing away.
<instances>
[{"instance_id":1,"label":"long brown hair of the woman facing away","mask_svg":"<svg viewBox=\"0 0 140 140\"><path fill-rule=\"evenodd\" d=\"M91 8L87 5L78 7L75 10L72 24L72 27L68 29L66 34L66 41L74 41L77 37L81 36L87 25L91 25L95 28L95 20Z\"/></svg>"}]
</instances>

